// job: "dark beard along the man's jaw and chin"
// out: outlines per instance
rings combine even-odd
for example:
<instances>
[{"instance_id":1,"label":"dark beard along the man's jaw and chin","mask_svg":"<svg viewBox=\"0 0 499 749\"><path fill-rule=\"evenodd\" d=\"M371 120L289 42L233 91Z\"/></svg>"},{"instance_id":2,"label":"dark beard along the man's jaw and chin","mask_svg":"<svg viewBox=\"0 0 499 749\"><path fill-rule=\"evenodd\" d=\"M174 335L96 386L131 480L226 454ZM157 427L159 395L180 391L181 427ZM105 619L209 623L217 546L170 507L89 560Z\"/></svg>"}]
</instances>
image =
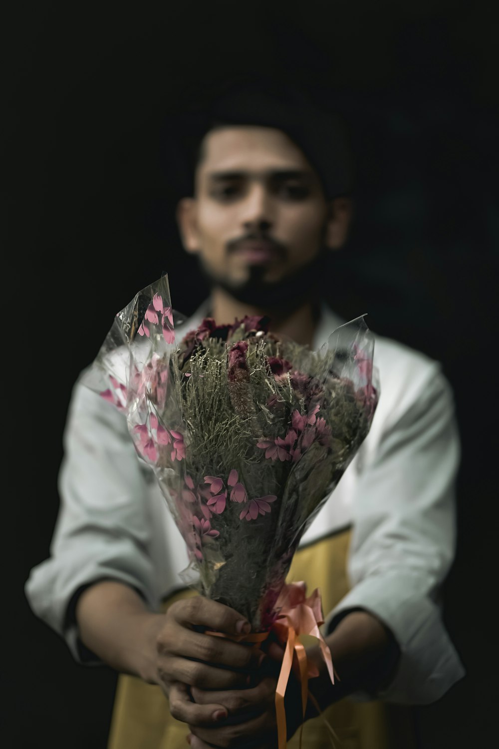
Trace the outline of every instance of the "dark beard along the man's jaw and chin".
<instances>
[{"instance_id":1,"label":"dark beard along the man's jaw and chin","mask_svg":"<svg viewBox=\"0 0 499 749\"><path fill-rule=\"evenodd\" d=\"M275 310L282 316L304 304L313 303L314 308L319 305L329 254L327 247L322 246L307 264L277 281L266 281L266 268L252 265L247 279L233 282L226 276L213 273L200 255L198 259L200 273L209 288L221 288L238 302L269 312Z\"/></svg>"}]
</instances>

